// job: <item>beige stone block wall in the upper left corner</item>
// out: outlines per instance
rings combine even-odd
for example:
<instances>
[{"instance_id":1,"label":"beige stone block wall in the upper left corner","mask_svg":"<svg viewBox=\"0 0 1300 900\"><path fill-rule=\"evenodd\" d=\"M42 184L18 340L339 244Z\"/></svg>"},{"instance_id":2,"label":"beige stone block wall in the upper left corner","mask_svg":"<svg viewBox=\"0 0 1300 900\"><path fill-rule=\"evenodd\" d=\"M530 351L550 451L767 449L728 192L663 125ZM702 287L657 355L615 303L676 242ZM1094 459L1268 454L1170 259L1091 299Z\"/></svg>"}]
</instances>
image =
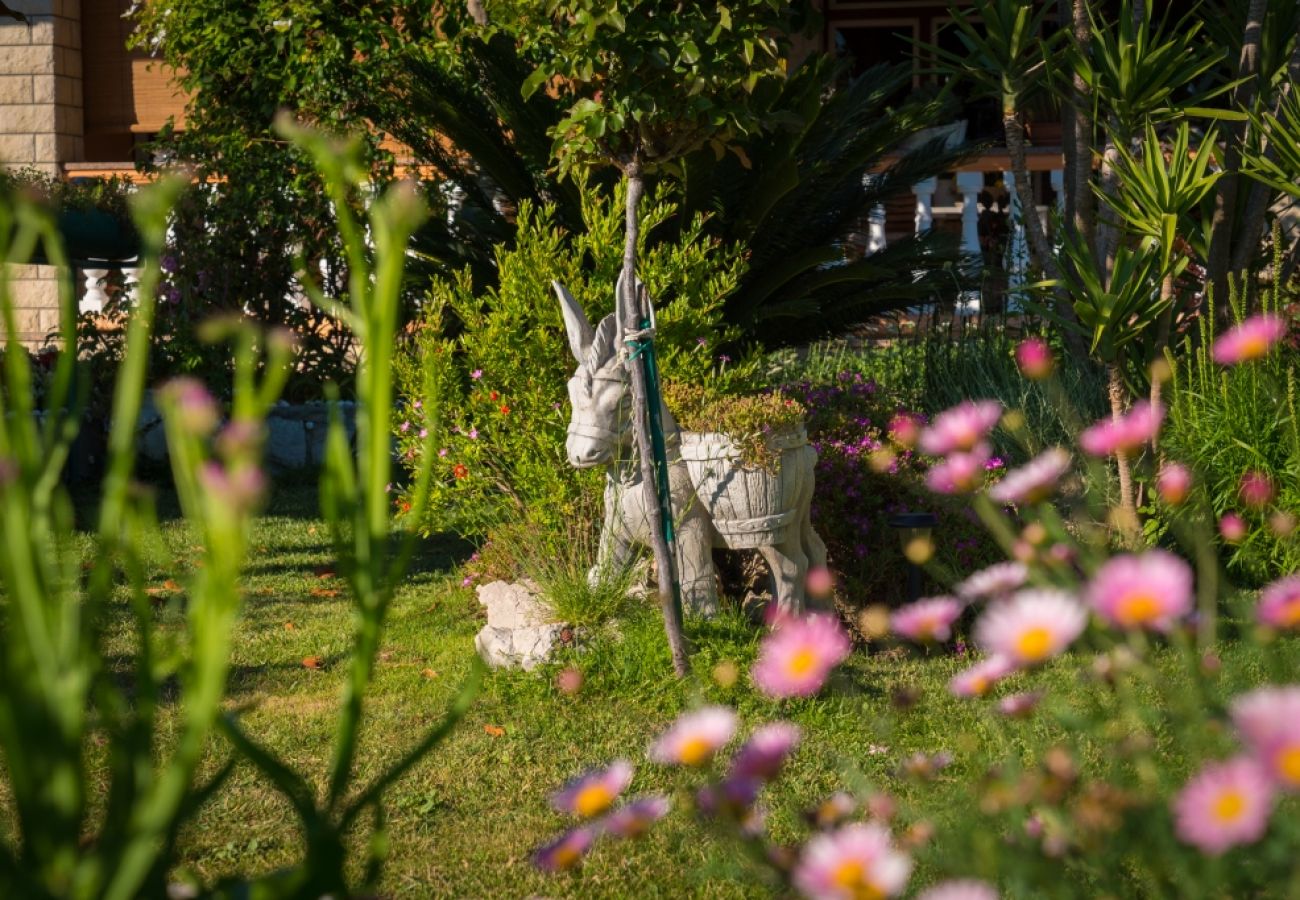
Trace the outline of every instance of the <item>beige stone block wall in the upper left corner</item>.
<instances>
[{"instance_id":1,"label":"beige stone block wall in the upper left corner","mask_svg":"<svg viewBox=\"0 0 1300 900\"><path fill-rule=\"evenodd\" d=\"M58 174L84 151L81 0L5 0L29 23L0 17L0 164ZM55 269L9 267L21 338L57 324Z\"/></svg>"}]
</instances>

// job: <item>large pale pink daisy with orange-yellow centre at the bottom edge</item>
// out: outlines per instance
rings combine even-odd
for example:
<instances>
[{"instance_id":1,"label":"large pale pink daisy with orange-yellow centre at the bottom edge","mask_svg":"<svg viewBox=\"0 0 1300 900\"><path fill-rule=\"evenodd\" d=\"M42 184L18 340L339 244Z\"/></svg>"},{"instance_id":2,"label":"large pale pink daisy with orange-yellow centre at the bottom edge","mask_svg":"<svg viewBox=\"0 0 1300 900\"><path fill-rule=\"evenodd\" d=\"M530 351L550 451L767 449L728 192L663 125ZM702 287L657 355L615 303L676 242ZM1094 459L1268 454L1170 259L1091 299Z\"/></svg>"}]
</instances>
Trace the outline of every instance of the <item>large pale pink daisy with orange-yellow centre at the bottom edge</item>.
<instances>
[{"instance_id":1,"label":"large pale pink daisy with orange-yellow centre at the bottom edge","mask_svg":"<svg viewBox=\"0 0 1300 900\"><path fill-rule=\"evenodd\" d=\"M794 867L794 887L811 900L890 897L902 892L911 860L875 822L846 825L809 839Z\"/></svg>"}]
</instances>

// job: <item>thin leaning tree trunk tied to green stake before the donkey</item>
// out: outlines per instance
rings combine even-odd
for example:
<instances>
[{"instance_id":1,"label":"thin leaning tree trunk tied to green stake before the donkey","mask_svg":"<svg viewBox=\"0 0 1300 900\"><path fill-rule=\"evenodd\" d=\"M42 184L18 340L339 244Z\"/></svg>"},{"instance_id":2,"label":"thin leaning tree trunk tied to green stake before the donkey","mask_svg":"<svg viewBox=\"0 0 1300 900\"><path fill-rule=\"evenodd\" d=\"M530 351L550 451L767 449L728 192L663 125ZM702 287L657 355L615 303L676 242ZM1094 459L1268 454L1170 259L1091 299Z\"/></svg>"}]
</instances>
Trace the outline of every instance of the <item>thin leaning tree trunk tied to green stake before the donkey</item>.
<instances>
[{"instance_id":1,"label":"thin leaning tree trunk tied to green stake before the donkey","mask_svg":"<svg viewBox=\"0 0 1300 900\"><path fill-rule=\"evenodd\" d=\"M623 245L623 295L618 298L618 315L623 323L623 333L633 334L641 330L641 302L637 297L636 273L637 238L641 230L638 212L641 195L645 192L645 181L640 160L633 159L628 163L624 174L628 178L627 237ZM668 635L668 650L672 653L672 670L681 678L690 671L690 659L681 627L681 609L673 590L675 561L663 533L663 515L659 510L659 494L655 490L654 454L650 446L650 410L646 406L645 359L637 356L630 363L632 429L641 463L644 502L650 519L650 546L654 550L654 566L659 575L659 609L663 611L663 627Z\"/></svg>"}]
</instances>

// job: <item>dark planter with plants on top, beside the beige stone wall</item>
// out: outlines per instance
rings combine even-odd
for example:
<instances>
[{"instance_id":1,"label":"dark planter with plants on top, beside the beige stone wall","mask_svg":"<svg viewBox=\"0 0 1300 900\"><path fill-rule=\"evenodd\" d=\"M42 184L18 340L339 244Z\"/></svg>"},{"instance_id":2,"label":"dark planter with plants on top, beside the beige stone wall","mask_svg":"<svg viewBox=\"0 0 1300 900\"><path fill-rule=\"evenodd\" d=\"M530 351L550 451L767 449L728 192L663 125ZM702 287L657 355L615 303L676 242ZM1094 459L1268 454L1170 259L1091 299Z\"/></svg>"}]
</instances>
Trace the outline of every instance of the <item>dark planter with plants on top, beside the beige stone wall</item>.
<instances>
[{"instance_id":1,"label":"dark planter with plants on top, beside the beige stone wall","mask_svg":"<svg viewBox=\"0 0 1300 900\"><path fill-rule=\"evenodd\" d=\"M64 181L30 168L0 172L0 194L22 192L49 209L72 260L121 261L139 255L140 238L126 208L133 189L130 181L118 177ZM47 260L38 247L30 259L8 261Z\"/></svg>"}]
</instances>

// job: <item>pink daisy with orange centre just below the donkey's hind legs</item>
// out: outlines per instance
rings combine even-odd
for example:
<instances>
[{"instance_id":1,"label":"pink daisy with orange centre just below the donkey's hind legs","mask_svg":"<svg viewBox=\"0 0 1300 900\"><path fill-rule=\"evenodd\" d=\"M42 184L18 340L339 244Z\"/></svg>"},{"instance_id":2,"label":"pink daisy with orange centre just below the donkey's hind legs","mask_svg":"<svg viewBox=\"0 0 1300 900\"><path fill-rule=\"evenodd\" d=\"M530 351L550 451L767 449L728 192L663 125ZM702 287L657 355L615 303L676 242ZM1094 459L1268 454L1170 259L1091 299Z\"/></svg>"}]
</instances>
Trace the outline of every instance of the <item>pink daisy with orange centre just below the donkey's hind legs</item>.
<instances>
[{"instance_id":1,"label":"pink daisy with orange centre just below the donkey's hind legs","mask_svg":"<svg viewBox=\"0 0 1300 900\"><path fill-rule=\"evenodd\" d=\"M750 674L768 697L810 697L852 649L849 635L832 615L785 619L763 639Z\"/></svg>"}]
</instances>

